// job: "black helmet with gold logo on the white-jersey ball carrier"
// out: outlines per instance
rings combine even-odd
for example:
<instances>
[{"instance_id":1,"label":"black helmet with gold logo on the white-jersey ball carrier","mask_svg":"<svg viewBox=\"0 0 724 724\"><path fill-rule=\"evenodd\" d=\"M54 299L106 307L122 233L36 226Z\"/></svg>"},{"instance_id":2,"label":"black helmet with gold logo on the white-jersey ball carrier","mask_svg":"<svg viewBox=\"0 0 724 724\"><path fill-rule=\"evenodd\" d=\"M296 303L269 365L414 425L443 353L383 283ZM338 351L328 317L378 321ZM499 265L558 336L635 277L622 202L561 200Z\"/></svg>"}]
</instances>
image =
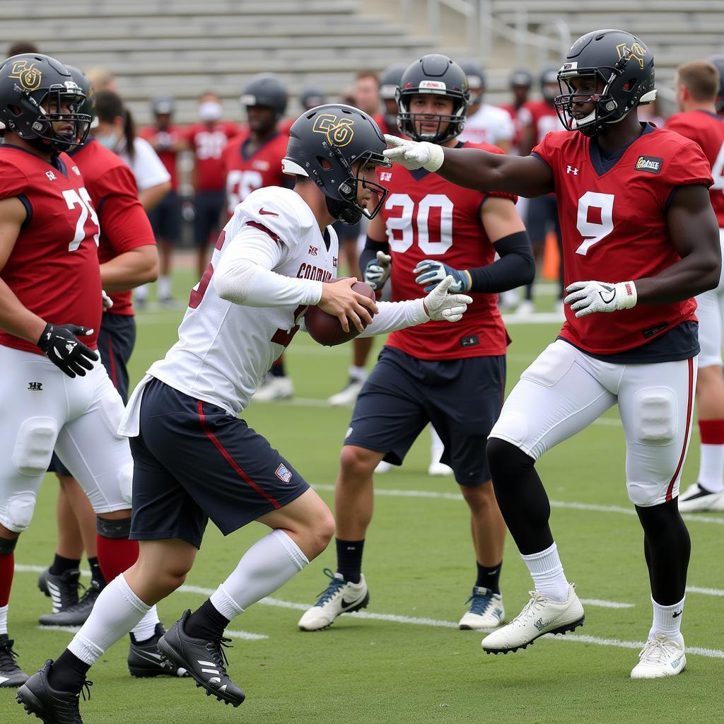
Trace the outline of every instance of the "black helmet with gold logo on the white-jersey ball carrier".
<instances>
[{"instance_id":1,"label":"black helmet with gold logo on the white-jersey ball carrier","mask_svg":"<svg viewBox=\"0 0 724 724\"><path fill-rule=\"evenodd\" d=\"M387 189L363 180L352 170L356 161L389 168L382 151L387 148L382 131L369 115L353 106L327 104L303 113L289 130L282 171L311 178L327 197L335 219L356 224L362 216L374 219L387 198ZM374 209L357 201L358 185L378 197Z\"/></svg>"}]
</instances>

